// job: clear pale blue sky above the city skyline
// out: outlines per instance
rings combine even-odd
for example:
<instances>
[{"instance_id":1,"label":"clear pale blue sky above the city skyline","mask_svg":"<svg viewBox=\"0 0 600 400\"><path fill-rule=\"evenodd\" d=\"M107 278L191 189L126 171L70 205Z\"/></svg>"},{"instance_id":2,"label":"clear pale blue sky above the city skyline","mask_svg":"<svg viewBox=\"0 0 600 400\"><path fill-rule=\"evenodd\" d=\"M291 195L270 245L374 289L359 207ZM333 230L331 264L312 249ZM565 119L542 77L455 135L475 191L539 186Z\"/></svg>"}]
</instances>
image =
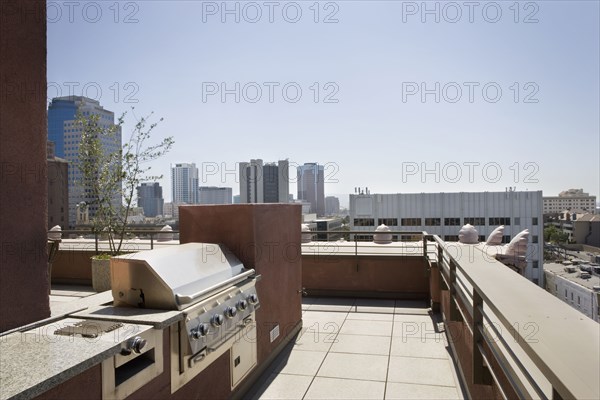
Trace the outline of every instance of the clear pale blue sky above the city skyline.
<instances>
[{"instance_id":1,"label":"clear pale blue sky above the city skyline","mask_svg":"<svg viewBox=\"0 0 600 400\"><path fill-rule=\"evenodd\" d=\"M251 158L325 164L342 204L357 186L599 196L599 2L475 3L48 1L48 96L164 117L167 201L170 163L235 194Z\"/></svg>"}]
</instances>

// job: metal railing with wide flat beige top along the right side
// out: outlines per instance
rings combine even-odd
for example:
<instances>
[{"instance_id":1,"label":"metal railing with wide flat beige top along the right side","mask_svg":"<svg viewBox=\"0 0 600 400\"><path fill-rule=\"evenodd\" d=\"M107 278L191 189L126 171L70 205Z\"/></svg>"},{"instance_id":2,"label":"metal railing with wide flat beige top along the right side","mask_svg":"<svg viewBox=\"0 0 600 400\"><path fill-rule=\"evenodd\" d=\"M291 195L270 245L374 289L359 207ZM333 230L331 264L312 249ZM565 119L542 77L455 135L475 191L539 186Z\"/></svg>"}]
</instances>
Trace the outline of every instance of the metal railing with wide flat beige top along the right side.
<instances>
[{"instance_id":1,"label":"metal railing with wide flat beige top along the right side","mask_svg":"<svg viewBox=\"0 0 600 400\"><path fill-rule=\"evenodd\" d=\"M465 259L464 252L452 254L452 246L436 235L423 240L437 245L436 253L429 252L428 257L437 263L449 292L447 320L464 322L471 333L474 384L495 382L504 398L511 397L500 384L491 355L519 398L599 398L600 329L594 321L565 309L559 299L516 276L485 250L465 247L473 251ZM521 299L529 299L529 304L519 304ZM570 319L571 326L564 326ZM532 329L525 329L527 325ZM562 333L566 328L573 340ZM448 340L452 343L451 337ZM587 354L576 354L582 343L589 343Z\"/></svg>"}]
</instances>

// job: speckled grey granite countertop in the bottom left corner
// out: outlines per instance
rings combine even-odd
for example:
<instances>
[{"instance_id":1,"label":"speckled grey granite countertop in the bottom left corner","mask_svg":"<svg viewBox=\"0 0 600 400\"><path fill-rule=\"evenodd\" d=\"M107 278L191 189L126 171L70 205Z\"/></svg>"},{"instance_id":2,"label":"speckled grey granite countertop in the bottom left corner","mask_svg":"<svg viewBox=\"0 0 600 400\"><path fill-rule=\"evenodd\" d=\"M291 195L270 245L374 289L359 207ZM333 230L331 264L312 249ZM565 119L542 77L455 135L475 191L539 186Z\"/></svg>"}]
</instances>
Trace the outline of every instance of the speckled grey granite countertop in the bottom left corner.
<instances>
[{"instance_id":1,"label":"speckled grey granite countertop in the bottom left corner","mask_svg":"<svg viewBox=\"0 0 600 400\"><path fill-rule=\"evenodd\" d=\"M83 321L65 318L0 337L0 400L35 397L117 354L123 340L152 329L124 323L98 337L54 333Z\"/></svg>"}]
</instances>

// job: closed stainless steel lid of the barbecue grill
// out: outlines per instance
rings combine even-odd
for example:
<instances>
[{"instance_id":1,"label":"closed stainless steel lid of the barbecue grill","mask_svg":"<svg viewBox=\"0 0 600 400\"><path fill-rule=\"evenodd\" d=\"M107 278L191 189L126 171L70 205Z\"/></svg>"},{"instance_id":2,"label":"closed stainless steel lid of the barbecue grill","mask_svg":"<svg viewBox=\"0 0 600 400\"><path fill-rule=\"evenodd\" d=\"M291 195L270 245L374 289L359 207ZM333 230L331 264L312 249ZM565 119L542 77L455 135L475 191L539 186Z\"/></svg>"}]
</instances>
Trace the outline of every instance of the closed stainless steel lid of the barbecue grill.
<instances>
[{"instance_id":1,"label":"closed stainless steel lid of the barbecue grill","mask_svg":"<svg viewBox=\"0 0 600 400\"><path fill-rule=\"evenodd\" d=\"M186 243L113 257L115 306L182 310L254 274L224 245Z\"/></svg>"}]
</instances>

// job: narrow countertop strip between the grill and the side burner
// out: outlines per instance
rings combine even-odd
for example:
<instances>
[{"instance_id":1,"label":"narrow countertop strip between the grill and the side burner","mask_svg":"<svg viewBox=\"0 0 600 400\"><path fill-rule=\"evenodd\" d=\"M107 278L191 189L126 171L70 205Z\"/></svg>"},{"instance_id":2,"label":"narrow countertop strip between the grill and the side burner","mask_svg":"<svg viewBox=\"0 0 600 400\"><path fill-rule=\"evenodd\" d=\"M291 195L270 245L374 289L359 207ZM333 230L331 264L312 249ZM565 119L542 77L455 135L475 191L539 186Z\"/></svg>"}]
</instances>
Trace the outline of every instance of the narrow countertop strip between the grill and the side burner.
<instances>
[{"instance_id":1,"label":"narrow countertop strip between the grill and the side burner","mask_svg":"<svg viewBox=\"0 0 600 400\"><path fill-rule=\"evenodd\" d=\"M183 319L183 311L153 310L134 307L95 306L71 315L75 318L127 322L152 325L155 329L165 329Z\"/></svg>"}]
</instances>

